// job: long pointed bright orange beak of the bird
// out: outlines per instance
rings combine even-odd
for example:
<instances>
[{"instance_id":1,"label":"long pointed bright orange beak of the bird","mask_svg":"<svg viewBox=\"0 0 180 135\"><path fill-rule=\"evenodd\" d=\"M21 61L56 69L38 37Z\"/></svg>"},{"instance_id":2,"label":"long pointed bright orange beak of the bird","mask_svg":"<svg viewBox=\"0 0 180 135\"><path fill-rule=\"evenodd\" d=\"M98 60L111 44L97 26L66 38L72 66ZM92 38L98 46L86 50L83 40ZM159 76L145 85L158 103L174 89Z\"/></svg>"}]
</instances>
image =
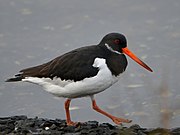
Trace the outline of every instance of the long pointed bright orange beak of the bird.
<instances>
[{"instance_id":1,"label":"long pointed bright orange beak of the bird","mask_svg":"<svg viewBox=\"0 0 180 135\"><path fill-rule=\"evenodd\" d=\"M138 64L140 64L141 66L143 66L145 69L149 70L150 72L153 72L153 70L146 65L143 61L141 61L136 55L134 55L127 47L126 48L122 48L123 53L127 54L131 59L133 59L134 61L136 61Z\"/></svg>"}]
</instances>

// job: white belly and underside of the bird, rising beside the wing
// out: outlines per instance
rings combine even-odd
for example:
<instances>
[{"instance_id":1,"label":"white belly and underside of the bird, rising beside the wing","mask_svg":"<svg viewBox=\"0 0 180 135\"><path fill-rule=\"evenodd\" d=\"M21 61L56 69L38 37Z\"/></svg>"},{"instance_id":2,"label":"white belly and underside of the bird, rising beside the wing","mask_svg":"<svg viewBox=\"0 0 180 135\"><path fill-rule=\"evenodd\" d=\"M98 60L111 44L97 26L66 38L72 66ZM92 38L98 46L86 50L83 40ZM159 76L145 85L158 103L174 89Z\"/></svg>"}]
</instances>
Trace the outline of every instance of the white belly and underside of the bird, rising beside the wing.
<instances>
[{"instance_id":1,"label":"white belly and underside of the bird, rising beside the wing","mask_svg":"<svg viewBox=\"0 0 180 135\"><path fill-rule=\"evenodd\" d=\"M22 81L31 82L42 86L49 93L66 98L78 98L93 95L104 91L118 81L118 77L112 75L103 58L94 60L94 67L99 68L96 76L85 78L81 81L61 80L60 78L26 77Z\"/></svg>"}]
</instances>

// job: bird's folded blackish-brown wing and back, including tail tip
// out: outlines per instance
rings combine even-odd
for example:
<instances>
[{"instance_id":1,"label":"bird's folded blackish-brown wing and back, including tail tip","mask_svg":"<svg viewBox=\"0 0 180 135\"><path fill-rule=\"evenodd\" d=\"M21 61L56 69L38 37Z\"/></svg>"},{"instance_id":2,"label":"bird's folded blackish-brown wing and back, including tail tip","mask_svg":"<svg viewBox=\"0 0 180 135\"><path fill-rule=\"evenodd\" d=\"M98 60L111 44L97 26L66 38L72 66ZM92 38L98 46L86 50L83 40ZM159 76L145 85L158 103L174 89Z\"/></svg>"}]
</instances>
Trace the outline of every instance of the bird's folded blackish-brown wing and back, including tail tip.
<instances>
[{"instance_id":1,"label":"bird's folded blackish-brown wing and back, including tail tip","mask_svg":"<svg viewBox=\"0 0 180 135\"><path fill-rule=\"evenodd\" d=\"M25 77L60 77L62 80L79 81L86 77L93 77L98 73L98 68L93 67L96 57L103 57L98 46L82 47L66 53L54 60L20 71L15 78L7 81L21 81Z\"/></svg>"}]
</instances>

